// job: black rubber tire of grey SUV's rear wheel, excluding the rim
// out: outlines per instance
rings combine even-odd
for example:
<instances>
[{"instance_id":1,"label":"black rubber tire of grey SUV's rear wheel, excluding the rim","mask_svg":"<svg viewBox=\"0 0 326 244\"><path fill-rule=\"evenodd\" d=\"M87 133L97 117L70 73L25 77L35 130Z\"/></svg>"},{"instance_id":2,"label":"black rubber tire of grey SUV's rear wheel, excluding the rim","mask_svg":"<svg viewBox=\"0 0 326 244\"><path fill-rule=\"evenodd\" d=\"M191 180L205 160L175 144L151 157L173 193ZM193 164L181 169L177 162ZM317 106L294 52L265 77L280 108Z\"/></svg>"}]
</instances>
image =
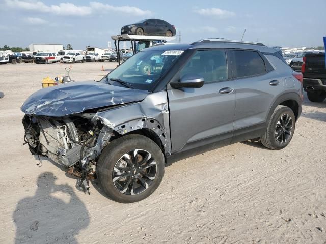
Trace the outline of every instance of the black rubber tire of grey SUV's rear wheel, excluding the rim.
<instances>
[{"instance_id":1,"label":"black rubber tire of grey SUV's rear wheel, excluding the rim","mask_svg":"<svg viewBox=\"0 0 326 244\"><path fill-rule=\"evenodd\" d=\"M291 131L291 136L287 140L287 142L280 144L279 142L277 142L277 140L275 138L275 127L276 127L277 121L284 114L289 114L291 116L292 121L293 121L293 128ZM292 140L292 137L293 137L293 134L295 131L295 122L296 122L295 115L294 115L292 109L290 109L289 107L286 107L286 106L282 106L280 109L277 109L271 116L271 123L268 126L268 130L270 133L269 135L271 135L269 138L271 146L273 146L275 149L283 149L284 147L286 147Z\"/></svg>"}]
</instances>

